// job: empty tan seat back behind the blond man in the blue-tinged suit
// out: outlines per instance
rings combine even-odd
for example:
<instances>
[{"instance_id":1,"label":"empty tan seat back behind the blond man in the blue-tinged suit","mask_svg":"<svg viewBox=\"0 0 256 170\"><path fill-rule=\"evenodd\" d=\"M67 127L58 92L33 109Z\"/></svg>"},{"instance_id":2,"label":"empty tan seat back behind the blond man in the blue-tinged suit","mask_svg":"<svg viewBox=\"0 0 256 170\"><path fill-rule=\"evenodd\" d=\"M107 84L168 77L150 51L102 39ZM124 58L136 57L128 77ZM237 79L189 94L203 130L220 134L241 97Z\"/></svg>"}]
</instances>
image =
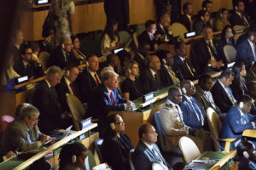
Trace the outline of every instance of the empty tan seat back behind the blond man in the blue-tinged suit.
<instances>
[{"instance_id":1,"label":"empty tan seat back behind the blond man in the blue-tinged suit","mask_svg":"<svg viewBox=\"0 0 256 170\"><path fill-rule=\"evenodd\" d=\"M76 130L81 130L79 127L79 122L82 121L85 115L84 105L75 95L67 96L67 105L71 111Z\"/></svg>"}]
</instances>

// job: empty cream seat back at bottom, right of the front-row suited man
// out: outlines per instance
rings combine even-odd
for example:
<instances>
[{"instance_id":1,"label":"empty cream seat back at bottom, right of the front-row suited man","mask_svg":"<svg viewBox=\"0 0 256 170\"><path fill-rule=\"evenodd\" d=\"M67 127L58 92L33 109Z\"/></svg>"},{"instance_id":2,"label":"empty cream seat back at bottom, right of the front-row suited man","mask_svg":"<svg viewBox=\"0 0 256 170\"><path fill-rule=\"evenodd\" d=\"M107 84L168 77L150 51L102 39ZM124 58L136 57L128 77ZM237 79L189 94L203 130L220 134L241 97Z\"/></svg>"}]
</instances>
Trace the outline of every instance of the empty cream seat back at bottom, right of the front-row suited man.
<instances>
[{"instance_id":1,"label":"empty cream seat back at bottom, right of the front-row suited man","mask_svg":"<svg viewBox=\"0 0 256 170\"><path fill-rule=\"evenodd\" d=\"M184 160L189 164L192 160L201 156L201 152L192 139L183 136L179 139L179 149L182 151Z\"/></svg>"}]
</instances>

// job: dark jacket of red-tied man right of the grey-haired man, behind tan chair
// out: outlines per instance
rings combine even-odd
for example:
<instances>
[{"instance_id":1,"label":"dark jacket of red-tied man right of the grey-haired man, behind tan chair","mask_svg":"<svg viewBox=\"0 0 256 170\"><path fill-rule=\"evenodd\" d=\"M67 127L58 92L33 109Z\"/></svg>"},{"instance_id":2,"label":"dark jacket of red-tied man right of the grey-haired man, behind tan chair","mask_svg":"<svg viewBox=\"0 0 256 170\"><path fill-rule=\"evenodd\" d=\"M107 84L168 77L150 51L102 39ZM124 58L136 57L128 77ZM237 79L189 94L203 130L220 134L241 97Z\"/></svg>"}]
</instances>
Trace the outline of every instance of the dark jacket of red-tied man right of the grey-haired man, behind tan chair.
<instances>
[{"instance_id":1,"label":"dark jacket of red-tied man right of the grey-haired man, behind tan chair","mask_svg":"<svg viewBox=\"0 0 256 170\"><path fill-rule=\"evenodd\" d=\"M80 92L79 92L79 88L77 87L77 84L75 82L73 82L72 84L75 91L75 96L77 96L81 100ZM55 86L55 91L58 95L58 100L60 101L60 104L64 109L64 111L69 111L66 94L70 94L70 92L64 77L62 77L61 82Z\"/></svg>"}]
</instances>

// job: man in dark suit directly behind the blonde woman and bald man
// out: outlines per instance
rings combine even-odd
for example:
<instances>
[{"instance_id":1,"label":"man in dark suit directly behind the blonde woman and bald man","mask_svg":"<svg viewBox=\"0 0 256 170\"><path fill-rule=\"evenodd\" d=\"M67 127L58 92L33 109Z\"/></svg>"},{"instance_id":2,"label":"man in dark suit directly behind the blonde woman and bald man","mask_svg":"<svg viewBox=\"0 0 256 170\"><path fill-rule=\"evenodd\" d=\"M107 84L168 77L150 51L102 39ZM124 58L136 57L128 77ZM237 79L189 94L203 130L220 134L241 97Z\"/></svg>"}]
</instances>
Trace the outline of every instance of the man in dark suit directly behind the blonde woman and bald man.
<instances>
[{"instance_id":1,"label":"man in dark suit directly behind the blonde woman and bald man","mask_svg":"<svg viewBox=\"0 0 256 170\"><path fill-rule=\"evenodd\" d=\"M150 51L150 44L148 42L140 42L138 45L138 51L133 57L133 60L137 62L140 68L140 73L148 67L148 56Z\"/></svg>"}]
</instances>

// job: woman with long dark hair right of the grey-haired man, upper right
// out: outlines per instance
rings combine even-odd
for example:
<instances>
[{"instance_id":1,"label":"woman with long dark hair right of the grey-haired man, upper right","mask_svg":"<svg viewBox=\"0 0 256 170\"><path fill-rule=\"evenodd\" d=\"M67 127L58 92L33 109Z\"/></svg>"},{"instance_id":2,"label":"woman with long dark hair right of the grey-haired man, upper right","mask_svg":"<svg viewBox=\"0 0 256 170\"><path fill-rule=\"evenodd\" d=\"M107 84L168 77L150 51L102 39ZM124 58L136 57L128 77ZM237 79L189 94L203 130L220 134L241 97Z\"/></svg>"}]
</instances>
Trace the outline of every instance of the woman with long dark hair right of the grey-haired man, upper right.
<instances>
[{"instance_id":1,"label":"woman with long dark hair right of the grey-haired man, upper right","mask_svg":"<svg viewBox=\"0 0 256 170\"><path fill-rule=\"evenodd\" d=\"M224 48L225 45L231 45L235 47L235 40L234 40L234 30L229 26L224 26L224 29L221 31L220 43Z\"/></svg>"}]
</instances>

